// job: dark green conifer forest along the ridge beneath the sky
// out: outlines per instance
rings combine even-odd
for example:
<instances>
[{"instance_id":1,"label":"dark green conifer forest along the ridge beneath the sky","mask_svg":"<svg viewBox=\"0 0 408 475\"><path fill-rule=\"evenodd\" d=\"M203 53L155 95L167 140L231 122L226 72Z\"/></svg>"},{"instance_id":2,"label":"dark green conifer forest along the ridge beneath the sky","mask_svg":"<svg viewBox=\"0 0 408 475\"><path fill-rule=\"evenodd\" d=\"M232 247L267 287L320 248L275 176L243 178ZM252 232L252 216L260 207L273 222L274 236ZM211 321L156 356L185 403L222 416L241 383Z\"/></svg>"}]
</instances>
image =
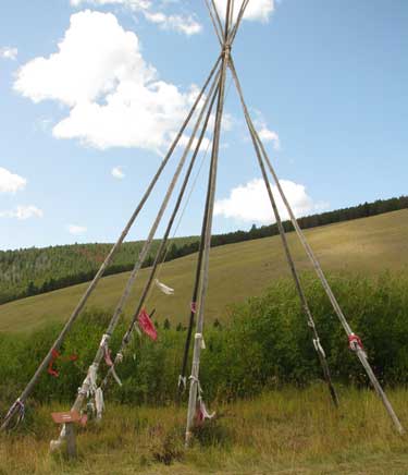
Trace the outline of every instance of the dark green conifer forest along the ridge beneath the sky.
<instances>
[{"instance_id":1,"label":"dark green conifer forest along the ridge beneath the sky","mask_svg":"<svg viewBox=\"0 0 408 475\"><path fill-rule=\"evenodd\" d=\"M306 216L299 218L298 222L300 228L309 229L406 208L408 208L408 196L400 196ZM293 231L290 221L284 221L283 226L286 232ZM276 224L261 227L254 224L249 231L238 230L213 235L211 246L277 234ZM159 240L154 241L151 254L143 267L151 266L159 242ZM106 275L131 270L141 246L141 241L124 243ZM198 236L176 238L168 248L165 260L196 253L198 247ZM0 304L90 281L110 248L111 244L95 243L0 252Z\"/></svg>"}]
</instances>

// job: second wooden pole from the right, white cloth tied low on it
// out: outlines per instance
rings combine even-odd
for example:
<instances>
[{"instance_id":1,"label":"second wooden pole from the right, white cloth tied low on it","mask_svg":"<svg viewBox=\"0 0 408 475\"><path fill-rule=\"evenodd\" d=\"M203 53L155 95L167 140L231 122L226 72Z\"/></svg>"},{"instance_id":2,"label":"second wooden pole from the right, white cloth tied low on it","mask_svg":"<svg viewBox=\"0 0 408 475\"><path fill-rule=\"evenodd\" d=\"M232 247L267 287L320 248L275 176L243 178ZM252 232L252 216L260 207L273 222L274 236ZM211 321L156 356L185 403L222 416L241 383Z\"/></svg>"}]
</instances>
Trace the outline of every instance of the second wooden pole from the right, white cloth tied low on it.
<instances>
[{"instance_id":1,"label":"second wooden pole from the right, white cloth tied low on it","mask_svg":"<svg viewBox=\"0 0 408 475\"><path fill-rule=\"evenodd\" d=\"M275 216L275 220L276 220L277 229L279 229L279 232L281 235L283 248L284 248L284 252L286 255L287 264L289 266L292 277L294 279L296 290L297 290L297 293L299 295L300 304L301 304L302 310L304 310L306 319L307 319L308 328L312 333L313 345L314 345L316 352L318 354L320 365L322 367L323 376L324 376L324 379L326 381L332 401L333 401L334 405L337 406L338 399L337 399L337 394L336 394L336 391L335 391L333 382L332 382L332 377L330 374L329 364L327 364L327 361L326 361L326 357L324 354L324 350L320 343L319 333L318 333L318 330L316 328L314 319L313 319L313 316L311 315L304 289L301 287L300 278L299 278L298 271L296 269L295 261L294 261L292 254L290 254L289 245L288 245L288 242L286 239L285 229L283 227L281 215L279 212L276 202L275 202L275 198L273 196L272 188L271 188L271 185L270 185L270 182L268 179L267 170L265 170L264 165L263 165L263 159L262 159L262 155L260 151L260 142L261 141L259 138L258 132L256 131L256 129L254 126L254 122L249 115L249 111L248 111L247 105L246 105L245 99L244 99L244 93L240 88L240 84L238 82L238 76L237 76L236 70L234 68L234 63L232 61L230 61L230 70L232 72L232 75L233 75L234 81L235 81L235 85L236 85L237 90L238 90L238 96L239 96L239 99L240 99L240 102L243 106L245 120L246 120L247 125L248 125L248 131L249 131L249 134L251 136L254 148L255 148L257 159L258 159L258 165L259 165L261 173L262 173L262 178L263 178L263 181L264 181L264 184L267 187L268 196L269 196L269 199L270 199L271 205L272 205L273 214Z\"/></svg>"}]
</instances>

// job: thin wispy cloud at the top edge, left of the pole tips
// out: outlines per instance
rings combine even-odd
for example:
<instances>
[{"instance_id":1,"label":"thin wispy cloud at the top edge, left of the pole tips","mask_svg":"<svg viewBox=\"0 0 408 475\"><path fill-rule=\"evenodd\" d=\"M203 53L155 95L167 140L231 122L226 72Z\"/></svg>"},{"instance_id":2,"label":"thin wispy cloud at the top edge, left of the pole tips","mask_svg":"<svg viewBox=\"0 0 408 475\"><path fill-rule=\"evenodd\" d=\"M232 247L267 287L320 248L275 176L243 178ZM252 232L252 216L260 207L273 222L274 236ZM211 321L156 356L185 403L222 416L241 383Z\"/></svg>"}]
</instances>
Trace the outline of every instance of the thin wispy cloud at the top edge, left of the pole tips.
<instances>
[{"instance_id":1,"label":"thin wispy cloud at the top edge, left of the pole tips","mask_svg":"<svg viewBox=\"0 0 408 475\"><path fill-rule=\"evenodd\" d=\"M71 0L73 7L82 4L92 5L123 5L129 8L134 12L140 12L145 19L159 25L163 29L172 29L174 32L184 33L187 36L200 33L202 26L197 22L194 15L166 14L163 11L153 9L153 2L150 0Z\"/></svg>"}]
</instances>

